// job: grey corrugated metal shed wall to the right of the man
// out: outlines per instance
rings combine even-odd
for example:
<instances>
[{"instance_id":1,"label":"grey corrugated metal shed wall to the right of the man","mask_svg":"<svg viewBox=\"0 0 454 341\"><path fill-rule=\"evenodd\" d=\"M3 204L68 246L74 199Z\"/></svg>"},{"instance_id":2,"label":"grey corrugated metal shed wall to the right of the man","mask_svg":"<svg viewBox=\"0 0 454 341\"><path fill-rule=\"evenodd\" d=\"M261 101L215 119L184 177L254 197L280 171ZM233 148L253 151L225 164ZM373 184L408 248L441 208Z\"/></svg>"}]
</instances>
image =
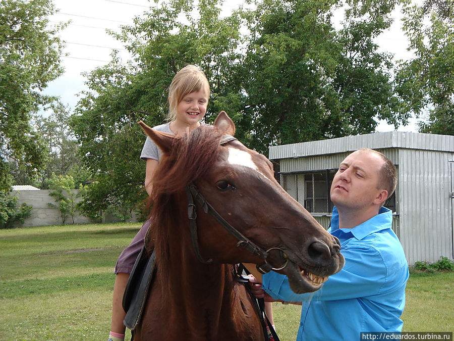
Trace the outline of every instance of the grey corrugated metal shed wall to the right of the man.
<instances>
[{"instance_id":1,"label":"grey corrugated metal shed wall to the right of the man","mask_svg":"<svg viewBox=\"0 0 454 341\"><path fill-rule=\"evenodd\" d=\"M449 161L454 153L401 150L400 240L409 264L453 258Z\"/></svg>"}]
</instances>

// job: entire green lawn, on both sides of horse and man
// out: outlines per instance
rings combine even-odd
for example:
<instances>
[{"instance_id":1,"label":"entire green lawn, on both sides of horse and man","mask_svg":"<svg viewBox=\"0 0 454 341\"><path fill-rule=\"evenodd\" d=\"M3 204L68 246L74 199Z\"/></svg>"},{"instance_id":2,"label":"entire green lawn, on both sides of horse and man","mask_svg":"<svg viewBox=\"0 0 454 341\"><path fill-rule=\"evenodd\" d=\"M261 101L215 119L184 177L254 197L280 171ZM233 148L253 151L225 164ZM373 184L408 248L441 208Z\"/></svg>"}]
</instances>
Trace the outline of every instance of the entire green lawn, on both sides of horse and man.
<instances>
[{"instance_id":1,"label":"entire green lawn, on both sides of horse and man","mask_svg":"<svg viewBox=\"0 0 454 341\"><path fill-rule=\"evenodd\" d=\"M105 340L113 266L139 228L100 224L0 230L0 339ZM452 283L454 272L412 273L404 330L453 331ZM282 341L295 340L299 308L274 304Z\"/></svg>"}]
</instances>

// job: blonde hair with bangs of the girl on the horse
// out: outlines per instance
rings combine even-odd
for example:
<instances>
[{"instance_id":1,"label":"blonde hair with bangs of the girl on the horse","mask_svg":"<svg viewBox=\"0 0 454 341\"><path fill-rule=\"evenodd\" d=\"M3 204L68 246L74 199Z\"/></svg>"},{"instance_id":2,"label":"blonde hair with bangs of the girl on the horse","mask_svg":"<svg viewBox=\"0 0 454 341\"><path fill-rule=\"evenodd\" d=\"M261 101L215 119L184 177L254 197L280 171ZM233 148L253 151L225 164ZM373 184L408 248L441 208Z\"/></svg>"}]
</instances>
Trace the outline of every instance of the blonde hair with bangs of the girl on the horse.
<instances>
[{"instance_id":1,"label":"blonde hair with bangs of the girl on the horse","mask_svg":"<svg viewBox=\"0 0 454 341\"><path fill-rule=\"evenodd\" d=\"M205 73L195 65L187 65L177 72L168 88L168 116L167 121L172 122L177 118L177 106L183 98L195 91L206 90L207 98L210 96L210 85Z\"/></svg>"}]
</instances>

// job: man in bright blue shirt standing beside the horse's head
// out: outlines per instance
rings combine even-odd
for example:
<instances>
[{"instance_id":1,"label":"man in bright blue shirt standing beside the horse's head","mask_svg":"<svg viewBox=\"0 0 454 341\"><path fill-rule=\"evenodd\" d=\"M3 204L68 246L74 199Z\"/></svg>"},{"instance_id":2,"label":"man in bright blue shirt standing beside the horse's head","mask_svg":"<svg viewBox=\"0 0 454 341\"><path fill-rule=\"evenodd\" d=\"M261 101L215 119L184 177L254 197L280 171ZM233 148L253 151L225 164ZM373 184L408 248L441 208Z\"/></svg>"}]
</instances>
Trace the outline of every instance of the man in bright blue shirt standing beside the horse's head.
<instances>
[{"instance_id":1,"label":"man in bright blue shirt standing beside the horse's head","mask_svg":"<svg viewBox=\"0 0 454 341\"><path fill-rule=\"evenodd\" d=\"M339 167L331 185L335 205L328 231L341 241L344 268L315 293L297 295L285 275L261 275L250 284L257 297L302 302L297 340L357 340L360 332L402 331L408 265L382 207L396 185L394 165L381 153L361 149Z\"/></svg>"}]
</instances>

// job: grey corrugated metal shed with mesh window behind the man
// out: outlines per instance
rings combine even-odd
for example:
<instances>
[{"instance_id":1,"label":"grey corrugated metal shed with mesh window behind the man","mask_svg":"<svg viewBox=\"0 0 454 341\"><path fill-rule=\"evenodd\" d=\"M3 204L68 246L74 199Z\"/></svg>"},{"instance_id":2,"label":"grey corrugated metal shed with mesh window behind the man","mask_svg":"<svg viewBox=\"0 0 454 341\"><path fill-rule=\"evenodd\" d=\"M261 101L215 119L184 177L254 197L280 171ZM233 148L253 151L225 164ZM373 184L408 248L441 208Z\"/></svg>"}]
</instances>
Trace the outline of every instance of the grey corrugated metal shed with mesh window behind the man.
<instances>
[{"instance_id":1,"label":"grey corrugated metal shed with mesh window behind the man","mask_svg":"<svg viewBox=\"0 0 454 341\"><path fill-rule=\"evenodd\" d=\"M328 140L277 145L269 158L280 164L280 183L325 228L332 203L329 188L341 161L360 148L386 155L398 170L398 184L385 206L407 261L454 258L454 136L376 132Z\"/></svg>"}]
</instances>

